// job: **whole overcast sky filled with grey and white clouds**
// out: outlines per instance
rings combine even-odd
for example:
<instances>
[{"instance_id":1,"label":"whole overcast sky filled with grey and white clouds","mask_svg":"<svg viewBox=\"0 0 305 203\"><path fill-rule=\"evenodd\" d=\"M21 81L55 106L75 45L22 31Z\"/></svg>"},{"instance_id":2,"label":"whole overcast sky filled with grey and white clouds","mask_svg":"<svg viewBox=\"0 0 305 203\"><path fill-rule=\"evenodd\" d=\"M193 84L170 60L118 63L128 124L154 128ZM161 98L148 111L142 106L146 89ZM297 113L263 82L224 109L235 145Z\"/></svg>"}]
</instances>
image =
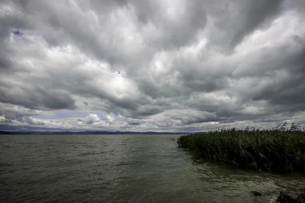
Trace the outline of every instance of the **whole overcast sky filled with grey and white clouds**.
<instances>
[{"instance_id":1,"label":"whole overcast sky filled with grey and white clouds","mask_svg":"<svg viewBox=\"0 0 305 203\"><path fill-rule=\"evenodd\" d=\"M305 126L303 0L3 0L0 129Z\"/></svg>"}]
</instances>

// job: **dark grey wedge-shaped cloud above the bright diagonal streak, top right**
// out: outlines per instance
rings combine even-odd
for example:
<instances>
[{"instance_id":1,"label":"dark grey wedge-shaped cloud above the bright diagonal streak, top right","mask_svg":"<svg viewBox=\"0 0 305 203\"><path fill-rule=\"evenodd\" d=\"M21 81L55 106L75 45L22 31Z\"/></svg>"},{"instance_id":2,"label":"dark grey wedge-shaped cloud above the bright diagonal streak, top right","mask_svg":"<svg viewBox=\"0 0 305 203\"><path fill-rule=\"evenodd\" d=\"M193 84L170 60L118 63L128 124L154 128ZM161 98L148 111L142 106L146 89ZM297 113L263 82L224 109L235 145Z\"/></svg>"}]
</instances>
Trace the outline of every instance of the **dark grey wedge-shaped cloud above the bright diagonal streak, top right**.
<instances>
[{"instance_id":1,"label":"dark grey wedge-shaped cloud above the bright diagonal streak, top right","mask_svg":"<svg viewBox=\"0 0 305 203\"><path fill-rule=\"evenodd\" d=\"M305 8L303 4L299 4ZM207 30L209 48L232 54L245 38L256 30L267 29L273 20L285 11L292 10L294 6L291 6L290 1L284 0L241 0L216 1L208 8L212 26L215 26L214 29Z\"/></svg>"}]
</instances>

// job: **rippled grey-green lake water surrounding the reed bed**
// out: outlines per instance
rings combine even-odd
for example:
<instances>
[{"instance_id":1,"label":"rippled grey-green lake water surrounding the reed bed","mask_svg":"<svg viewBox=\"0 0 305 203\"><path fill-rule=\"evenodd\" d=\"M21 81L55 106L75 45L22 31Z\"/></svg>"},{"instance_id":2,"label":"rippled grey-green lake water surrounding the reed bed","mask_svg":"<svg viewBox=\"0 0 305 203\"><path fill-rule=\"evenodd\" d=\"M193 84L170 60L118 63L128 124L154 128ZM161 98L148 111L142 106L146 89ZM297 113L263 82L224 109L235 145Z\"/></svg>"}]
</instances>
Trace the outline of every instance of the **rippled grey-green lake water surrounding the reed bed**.
<instances>
[{"instance_id":1,"label":"rippled grey-green lake water surrounding the reed bed","mask_svg":"<svg viewBox=\"0 0 305 203\"><path fill-rule=\"evenodd\" d=\"M305 187L196 159L169 137L0 136L0 202L272 202Z\"/></svg>"}]
</instances>

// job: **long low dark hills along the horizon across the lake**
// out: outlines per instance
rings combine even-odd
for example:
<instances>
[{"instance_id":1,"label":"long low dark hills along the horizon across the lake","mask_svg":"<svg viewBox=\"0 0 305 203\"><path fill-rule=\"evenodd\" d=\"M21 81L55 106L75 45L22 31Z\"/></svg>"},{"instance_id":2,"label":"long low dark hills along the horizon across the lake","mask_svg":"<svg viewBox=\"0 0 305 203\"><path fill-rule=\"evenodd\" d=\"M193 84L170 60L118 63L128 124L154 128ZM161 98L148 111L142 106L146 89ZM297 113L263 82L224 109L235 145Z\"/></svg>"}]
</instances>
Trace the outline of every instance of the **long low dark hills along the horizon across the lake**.
<instances>
[{"instance_id":1,"label":"long low dark hills along the horizon across the lake","mask_svg":"<svg viewBox=\"0 0 305 203\"><path fill-rule=\"evenodd\" d=\"M191 132L133 132L133 131L14 131L14 134L191 134Z\"/></svg>"}]
</instances>

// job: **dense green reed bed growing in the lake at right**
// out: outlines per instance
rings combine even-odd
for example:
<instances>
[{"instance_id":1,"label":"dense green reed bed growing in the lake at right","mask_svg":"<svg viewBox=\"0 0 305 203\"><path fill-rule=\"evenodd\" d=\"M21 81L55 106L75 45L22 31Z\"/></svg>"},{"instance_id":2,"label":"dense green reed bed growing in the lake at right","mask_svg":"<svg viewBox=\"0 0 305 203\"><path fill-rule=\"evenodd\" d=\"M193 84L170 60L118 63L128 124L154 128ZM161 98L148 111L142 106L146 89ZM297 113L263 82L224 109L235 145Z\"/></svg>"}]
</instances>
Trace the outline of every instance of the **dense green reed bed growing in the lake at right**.
<instances>
[{"instance_id":1,"label":"dense green reed bed growing in the lake at right","mask_svg":"<svg viewBox=\"0 0 305 203\"><path fill-rule=\"evenodd\" d=\"M272 129L223 128L177 139L177 146L201 157L241 168L269 172L305 172L305 131L287 122Z\"/></svg>"}]
</instances>

